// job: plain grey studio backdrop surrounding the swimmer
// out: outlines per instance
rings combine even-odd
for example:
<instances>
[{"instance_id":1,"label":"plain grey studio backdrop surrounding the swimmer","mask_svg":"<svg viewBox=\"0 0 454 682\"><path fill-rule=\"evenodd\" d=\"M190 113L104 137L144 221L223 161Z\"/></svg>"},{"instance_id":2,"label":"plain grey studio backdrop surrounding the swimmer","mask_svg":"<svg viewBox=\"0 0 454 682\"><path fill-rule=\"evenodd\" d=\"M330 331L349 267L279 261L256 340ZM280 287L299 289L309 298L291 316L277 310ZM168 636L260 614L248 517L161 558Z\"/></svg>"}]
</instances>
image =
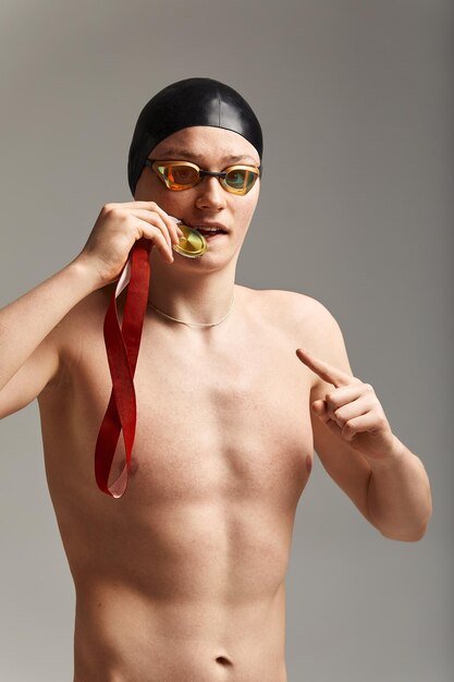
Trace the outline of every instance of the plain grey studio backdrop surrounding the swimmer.
<instances>
[{"instance_id":1,"label":"plain grey studio backdrop surrounding the swimmer","mask_svg":"<svg viewBox=\"0 0 454 682\"><path fill-rule=\"evenodd\" d=\"M420 543L388 540L316 463L287 576L290 682L451 681L453 3L3 0L0 19L0 304L130 199L154 93L192 75L238 88L266 171L237 281L332 312L434 501ZM69 681L74 594L36 404L1 423L0 451L0 680Z\"/></svg>"}]
</instances>

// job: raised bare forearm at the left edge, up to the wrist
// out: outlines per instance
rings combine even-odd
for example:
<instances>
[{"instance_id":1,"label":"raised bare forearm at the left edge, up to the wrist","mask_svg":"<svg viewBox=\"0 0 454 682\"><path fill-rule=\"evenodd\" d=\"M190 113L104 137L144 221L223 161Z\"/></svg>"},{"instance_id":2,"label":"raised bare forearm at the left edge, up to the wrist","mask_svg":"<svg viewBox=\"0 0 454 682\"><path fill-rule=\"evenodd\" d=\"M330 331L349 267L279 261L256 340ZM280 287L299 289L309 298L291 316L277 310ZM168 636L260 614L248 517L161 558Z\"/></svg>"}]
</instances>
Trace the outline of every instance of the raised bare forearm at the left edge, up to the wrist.
<instances>
[{"instance_id":1,"label":"raised bare forearm at the left edge, up to the wrist","mask_svg":"<svg viewBox=\"0 0 454 682\"><path fill-rule=\"evenodd\" d=\"M0 310L0 390L39 343L99 284L74 260Z\"/></svg>"}]
</instances>

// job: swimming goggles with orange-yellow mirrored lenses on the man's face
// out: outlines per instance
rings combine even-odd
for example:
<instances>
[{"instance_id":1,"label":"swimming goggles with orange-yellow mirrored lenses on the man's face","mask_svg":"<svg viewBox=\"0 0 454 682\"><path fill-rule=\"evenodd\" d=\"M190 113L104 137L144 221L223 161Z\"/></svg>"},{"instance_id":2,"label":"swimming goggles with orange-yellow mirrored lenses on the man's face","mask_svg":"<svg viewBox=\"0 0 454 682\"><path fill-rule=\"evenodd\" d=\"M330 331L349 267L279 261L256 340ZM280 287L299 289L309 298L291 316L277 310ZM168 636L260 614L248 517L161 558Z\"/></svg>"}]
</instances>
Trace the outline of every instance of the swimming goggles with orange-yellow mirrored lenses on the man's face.
<instances>
[{"instance_id":1,"label":"swimming goggles with orange-yellow mirrored lenses on the man's face","mask_svg":"<svg viewBox=\"0 0 454 682\"><path fill-rule=\"evenodd\" d=\"M223 171L205 171L191 161L157 161L146 159L145 166L151 168L172 192L182 192L195 187L205 175L218 178L224 190L232 194L245 195L255 185L261 169L256 166L229 166Z\"/></svg>"}]
</instances>

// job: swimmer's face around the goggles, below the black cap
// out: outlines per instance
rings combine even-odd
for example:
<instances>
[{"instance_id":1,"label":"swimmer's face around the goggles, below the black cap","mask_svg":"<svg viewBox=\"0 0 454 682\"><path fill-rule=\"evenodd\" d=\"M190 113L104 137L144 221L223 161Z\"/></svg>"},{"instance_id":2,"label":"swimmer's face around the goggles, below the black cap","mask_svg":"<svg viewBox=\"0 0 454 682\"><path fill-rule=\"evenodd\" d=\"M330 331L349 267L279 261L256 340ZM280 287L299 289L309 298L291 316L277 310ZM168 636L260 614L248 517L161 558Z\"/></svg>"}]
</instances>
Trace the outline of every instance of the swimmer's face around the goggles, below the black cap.
<instances>
[{"instance_id":1,"label":"swimmer's face around the goggles, below the black cap","mask_svg":"<svg viewBox=\"0 0 454 682\"><path fill-rule=\"evenodd\" d=\"M260 165L257 149L247 139L232 131L210 126L177 131L159 143L148 157L159 161L192 161L210 171L223 171L234 165ZM134 198L156 202L170 216L192 228L220 226L225 234L208 238L208 251L200 261L214 257L231 260L238 254L246 236L259 188L260 179L247 194L235 195L224 190L217 178L204 176L195 187L173 192L145 167Z\"/></svg>"}]
</instances>

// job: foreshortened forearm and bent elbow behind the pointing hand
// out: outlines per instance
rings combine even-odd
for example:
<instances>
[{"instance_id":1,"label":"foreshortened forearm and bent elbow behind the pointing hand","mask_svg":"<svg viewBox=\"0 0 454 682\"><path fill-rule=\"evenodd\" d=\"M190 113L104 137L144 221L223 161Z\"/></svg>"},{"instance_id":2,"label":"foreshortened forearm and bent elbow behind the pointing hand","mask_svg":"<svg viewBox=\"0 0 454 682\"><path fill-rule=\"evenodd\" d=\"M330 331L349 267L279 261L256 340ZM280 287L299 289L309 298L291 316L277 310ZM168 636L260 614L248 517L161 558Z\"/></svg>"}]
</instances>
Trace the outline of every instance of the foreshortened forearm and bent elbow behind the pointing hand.
<instances>
[{"instance_id":1,"label":"foreshortened forearm and bent elbow behind the pointing hand","mask_svg":"<svg viewBox=\"0 0 454 682\"><path fill-rule=\"evenodd\" d=\"M370 464L371 523L391 539L420 539L432 513L430 484L422 462L395 438L395 451Z\"/></svg>"}]
</instances>

